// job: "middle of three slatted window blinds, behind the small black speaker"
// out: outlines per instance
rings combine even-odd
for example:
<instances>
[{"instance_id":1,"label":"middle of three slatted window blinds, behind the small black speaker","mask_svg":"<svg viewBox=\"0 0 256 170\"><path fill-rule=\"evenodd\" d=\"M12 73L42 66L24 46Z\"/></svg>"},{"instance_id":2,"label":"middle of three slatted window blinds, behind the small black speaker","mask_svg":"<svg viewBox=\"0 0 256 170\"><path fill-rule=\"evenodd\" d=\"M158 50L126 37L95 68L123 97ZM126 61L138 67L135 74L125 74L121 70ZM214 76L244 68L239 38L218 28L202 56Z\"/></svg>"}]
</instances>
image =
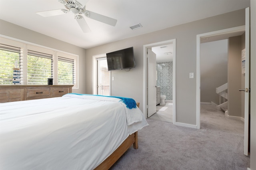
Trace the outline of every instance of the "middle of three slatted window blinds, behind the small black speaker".
<instances>
[{"instance_id":1,"label":"middle of three slatted window blinds, behind the small black speaker","mask_svg":"<svg viewBox=\"0 0 256 170\"><path fill-rule=\"evenodd\" d=\"M53 55L28 50L27 85L47 85L53 77Z\"/></svg>"}]
</instances>

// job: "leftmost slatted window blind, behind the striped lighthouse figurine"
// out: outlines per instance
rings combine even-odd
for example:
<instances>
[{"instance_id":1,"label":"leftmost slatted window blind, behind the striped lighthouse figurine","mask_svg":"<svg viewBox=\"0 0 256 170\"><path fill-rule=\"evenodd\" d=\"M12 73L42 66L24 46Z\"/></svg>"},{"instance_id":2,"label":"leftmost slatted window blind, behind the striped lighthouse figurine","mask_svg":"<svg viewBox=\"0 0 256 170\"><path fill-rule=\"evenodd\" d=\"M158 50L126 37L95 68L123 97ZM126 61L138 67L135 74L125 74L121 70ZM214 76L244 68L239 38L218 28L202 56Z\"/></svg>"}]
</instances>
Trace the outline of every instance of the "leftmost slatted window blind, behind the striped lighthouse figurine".
<instances>
[{"instance_id":1,"label":"leftmost slatted window blind, behind the striped lighthouse figurine","mask_svg":"<svg viewBox=\"0 0 256 170\"><path fill-rule=\"evenodd\" d=\"M15 62L20 68L20 84L23 84L23 49L0 44L0 85L12 84Z\"/></svg>"}]
</instances>

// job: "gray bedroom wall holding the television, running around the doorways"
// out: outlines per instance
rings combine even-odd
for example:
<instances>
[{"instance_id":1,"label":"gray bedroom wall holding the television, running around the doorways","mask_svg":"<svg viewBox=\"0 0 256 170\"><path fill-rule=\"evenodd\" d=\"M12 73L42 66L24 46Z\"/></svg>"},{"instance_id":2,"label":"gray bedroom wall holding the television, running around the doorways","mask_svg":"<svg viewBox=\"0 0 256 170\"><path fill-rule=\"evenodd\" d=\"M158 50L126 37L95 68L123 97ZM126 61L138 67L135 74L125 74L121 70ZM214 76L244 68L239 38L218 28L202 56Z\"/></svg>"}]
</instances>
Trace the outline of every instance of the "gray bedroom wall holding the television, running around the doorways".
<instances>
[{"instance_id":1,"label":"gray bedroom wall holding the television, running around the doorways","mask_svg":"<svg viewBox=\"0 0 256 170\"><path fill-rule=\"evenodd\" d=\"M93 93L92 56L134 47L136 67L112 71L112 95L132 97L143 103L143 45L176 39L176 122L196 125L196 35L245 24L245 10L205 18L164 30L112 42L86 50L86 92ZM140 28L143 29L143 28Z\"/></svg>"}]
</instances>

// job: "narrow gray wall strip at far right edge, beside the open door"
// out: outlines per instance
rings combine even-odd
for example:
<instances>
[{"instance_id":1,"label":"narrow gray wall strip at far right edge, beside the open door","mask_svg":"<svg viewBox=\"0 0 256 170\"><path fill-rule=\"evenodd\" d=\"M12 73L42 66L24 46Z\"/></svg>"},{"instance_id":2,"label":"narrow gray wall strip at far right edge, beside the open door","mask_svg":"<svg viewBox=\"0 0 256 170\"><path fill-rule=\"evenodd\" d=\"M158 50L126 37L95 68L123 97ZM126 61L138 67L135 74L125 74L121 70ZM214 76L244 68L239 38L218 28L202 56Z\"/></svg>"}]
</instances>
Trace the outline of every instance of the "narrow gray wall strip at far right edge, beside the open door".
<instances>
[{"instance_id":1,"label":"narrow gray wall strip at far right edge, beside the open door","mask_svg":"<svg viewBox=\"0 0 256 170\"><path fill-rule=\"evenodd\" d=\"M250 62L250 168L256 170L256 0L251 0L251 62Z\"/></svg>"}]
</instances>

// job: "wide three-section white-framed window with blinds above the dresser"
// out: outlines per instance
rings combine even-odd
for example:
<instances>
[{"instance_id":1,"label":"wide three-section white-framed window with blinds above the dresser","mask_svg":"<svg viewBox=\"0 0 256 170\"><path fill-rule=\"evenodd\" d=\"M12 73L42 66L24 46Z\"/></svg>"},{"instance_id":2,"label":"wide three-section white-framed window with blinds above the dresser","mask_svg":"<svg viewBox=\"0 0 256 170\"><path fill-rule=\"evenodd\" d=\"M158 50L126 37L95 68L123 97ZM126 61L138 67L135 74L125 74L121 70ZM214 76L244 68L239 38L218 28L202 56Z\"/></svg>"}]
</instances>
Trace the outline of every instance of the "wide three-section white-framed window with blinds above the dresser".
<instances>
[{"instance_id":1,"label":"wide three-section white-framed window with blinds above the dresser","mask_svg":"<svg viewBox=\"0 0 256 170\"><path fill-rule=\"evenodd\" d=\"M74 85L78 89L78 56L0 37L0 85L12 84L13 68L20 68L20 84Z\"/></svg>"}]
</instances>

